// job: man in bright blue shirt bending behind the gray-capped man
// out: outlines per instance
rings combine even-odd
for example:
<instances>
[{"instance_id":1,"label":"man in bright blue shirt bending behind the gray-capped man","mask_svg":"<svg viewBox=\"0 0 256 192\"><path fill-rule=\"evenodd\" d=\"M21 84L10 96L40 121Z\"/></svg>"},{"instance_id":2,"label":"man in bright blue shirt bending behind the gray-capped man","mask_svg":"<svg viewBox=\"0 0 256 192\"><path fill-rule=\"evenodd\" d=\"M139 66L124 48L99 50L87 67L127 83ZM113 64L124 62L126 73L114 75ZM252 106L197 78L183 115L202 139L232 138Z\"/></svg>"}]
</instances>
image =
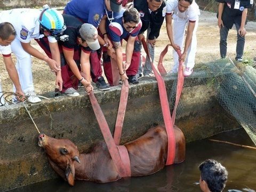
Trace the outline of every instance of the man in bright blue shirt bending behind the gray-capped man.
<instances>
[{"instance_id":1,"label":"man in bright blue shirt bending behind the gray-capped man","mask_svg":"<svg viewBox=\"0 0 256 192\"><path fill-rule=\"evenodd\" d=\"M103 15L105 15L107 11L119 12L121 11L121 8L122 0L71 0L65 6L63 13L73 15L84 23L90 23L94 27L98 28ZM106 33L102 34L103 35L98 36L100 45L108 45L108 49L111 49L112 44L108 39L108 35ZM102 77L100 58L101 51L99 51L99 54L97 51L91 52L91 77L92 81L96 83L98 89L105 91L109 90L109 86Z\"/></svg>"}]
</instances>

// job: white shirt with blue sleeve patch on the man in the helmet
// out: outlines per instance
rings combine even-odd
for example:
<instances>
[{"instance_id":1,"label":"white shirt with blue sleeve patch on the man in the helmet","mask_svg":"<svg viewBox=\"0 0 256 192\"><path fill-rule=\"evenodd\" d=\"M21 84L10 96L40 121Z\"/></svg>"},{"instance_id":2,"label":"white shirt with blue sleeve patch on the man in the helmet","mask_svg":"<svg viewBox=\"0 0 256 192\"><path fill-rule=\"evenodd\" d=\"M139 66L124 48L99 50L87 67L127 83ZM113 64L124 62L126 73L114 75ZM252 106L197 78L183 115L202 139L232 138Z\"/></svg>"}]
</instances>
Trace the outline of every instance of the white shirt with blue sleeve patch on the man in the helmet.
<instances>
[{"instance_id":1,"label":"white shirt with blue sleeve patch on the man in the helmet","mask_svg":"<svg viewBox=\"0 0 256 192\"><path fill-rule=\"evenodd\" d=\"M16 38L22 43L29 43L31 38L42 38L39 34L39 17L41 11L36 9L13 9L0 12L0 23L10 22L17 33ZM57 42L54 37L48 37L49 42Z\"/></svg>"}]
</instances>

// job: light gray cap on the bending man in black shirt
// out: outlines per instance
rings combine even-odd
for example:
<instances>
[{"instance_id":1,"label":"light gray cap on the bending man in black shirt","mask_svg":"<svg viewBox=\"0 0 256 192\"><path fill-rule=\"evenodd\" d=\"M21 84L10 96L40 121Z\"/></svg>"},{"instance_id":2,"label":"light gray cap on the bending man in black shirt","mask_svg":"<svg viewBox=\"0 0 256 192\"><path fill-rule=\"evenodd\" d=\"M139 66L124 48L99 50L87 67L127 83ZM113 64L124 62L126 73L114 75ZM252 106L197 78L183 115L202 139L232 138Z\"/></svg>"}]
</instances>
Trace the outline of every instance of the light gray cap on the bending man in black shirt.
<instances>
[{"instance_id":1,"label":"light gray cap on the bending man in black shirt","mask_svg":"<svg viewBox=\"0 0 256 192\"><path fill-rule=\"evenodd\" d=\"M91 50L100 49L98 31L90 23L84 23L79 29L80 36L86 41Z\"/></svg>"}]
</instances>

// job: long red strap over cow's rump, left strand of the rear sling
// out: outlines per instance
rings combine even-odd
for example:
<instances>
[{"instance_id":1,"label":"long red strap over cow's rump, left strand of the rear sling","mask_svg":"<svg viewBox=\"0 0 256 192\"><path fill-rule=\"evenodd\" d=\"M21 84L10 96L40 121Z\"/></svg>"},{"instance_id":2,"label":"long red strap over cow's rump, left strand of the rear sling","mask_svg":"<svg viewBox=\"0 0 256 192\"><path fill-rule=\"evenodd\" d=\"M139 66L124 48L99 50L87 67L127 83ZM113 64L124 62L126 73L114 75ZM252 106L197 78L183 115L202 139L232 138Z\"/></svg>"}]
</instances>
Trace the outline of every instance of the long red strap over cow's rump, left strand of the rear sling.
<instances>
[{"instance_id":1,"label":"long red strap over cow's rump, left strand of the rear sling","mask_svg":"<svg viewBox=\"0 0 256 192\"><path fill-rule=\"evenodd\" d=\"M142 45L143 45L144 50L147 53L147 56L151 62L151 58L149 57L148 47L145 42L145 39L142 39ZM158 84L159 98L160 98L161 107L162 107L165 129L166 129L166 133L167 133L167 137L168 137L168 151L167 151L166 165L171 165L174 163L174 158L175 158L175 135L174 135L172 118L171 118L171 113L170 113L170 108L169 108L169 102L167 99L167 93L166 93L166 89L165 89L164 79L156 70L153 62L151 62L151 67L154 71L154 74L155 74L155 77L157 80L157 84Z\"/></svg>"}]
</instances>

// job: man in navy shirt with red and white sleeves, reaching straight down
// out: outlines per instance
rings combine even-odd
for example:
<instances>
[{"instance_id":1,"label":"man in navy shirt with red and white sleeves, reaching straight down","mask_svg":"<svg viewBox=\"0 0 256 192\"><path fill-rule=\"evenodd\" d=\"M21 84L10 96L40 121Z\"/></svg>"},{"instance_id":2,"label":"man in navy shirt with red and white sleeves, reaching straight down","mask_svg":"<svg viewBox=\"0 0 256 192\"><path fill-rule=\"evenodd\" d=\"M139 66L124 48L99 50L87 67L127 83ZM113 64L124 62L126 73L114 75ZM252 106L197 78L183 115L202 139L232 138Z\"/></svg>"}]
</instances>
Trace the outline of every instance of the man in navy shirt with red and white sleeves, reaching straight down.
<instances>
[{"instance_id":1,"label":"man in navy shirt with red and white sleeves, reaching straight down","mask_svg":"<svg viewBox=\"0 0 256 192\"><path fill-rule=\"evenodd\" d=\"M119 70L121 80L128 79L129 83L137 84L139 81L136 78L136 74L139 67L140 50L134 49L135 41L139 43L138 34L141 29L142 23L140 20L140 14L135 8L123 9L118 15L115 15L115 19L111 22L106 21L106 30L111 41L115 47L115 60ZM127 41L126 44L126 61L123 65L123 50L122 40ZM113 76L111 65L109 65L109 59L103 56L103 66L105 75L109 84L113 84Z\"/></svg>"}]
</instances>

